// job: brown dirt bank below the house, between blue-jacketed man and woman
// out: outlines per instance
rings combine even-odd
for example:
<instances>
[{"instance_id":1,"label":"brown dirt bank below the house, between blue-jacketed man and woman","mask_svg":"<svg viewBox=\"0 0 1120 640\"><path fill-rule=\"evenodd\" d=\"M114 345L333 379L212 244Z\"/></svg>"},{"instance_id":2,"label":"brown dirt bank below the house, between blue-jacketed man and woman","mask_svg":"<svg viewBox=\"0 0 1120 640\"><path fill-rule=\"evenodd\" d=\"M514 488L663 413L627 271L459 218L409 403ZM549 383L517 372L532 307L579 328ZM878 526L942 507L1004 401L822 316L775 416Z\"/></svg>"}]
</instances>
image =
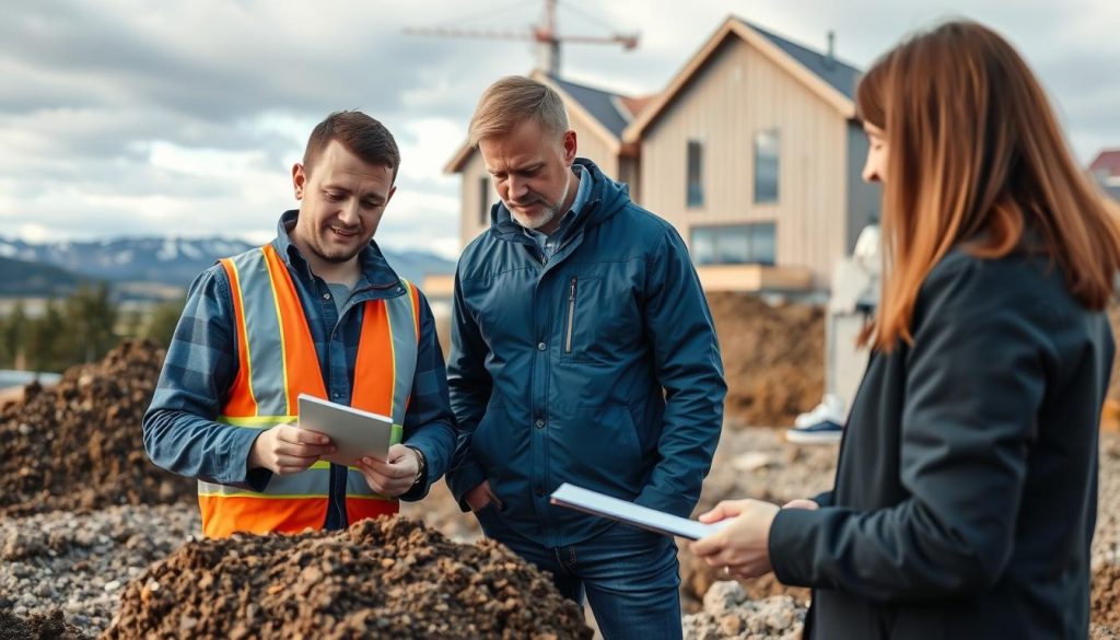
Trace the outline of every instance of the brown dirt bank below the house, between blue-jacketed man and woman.
<instances>
[{"instance_id":1,"label":"brown dirt bank below the house, between blue-jacketed man and woman","mask_svg":"<svg viewBox=\"0 0 1120 640\"><path fill-rule=\"evenodd\" d=\"M729 424L787 426L824 392L824 309L709 293L727 377Z\"/></svg>"}]
</instances>

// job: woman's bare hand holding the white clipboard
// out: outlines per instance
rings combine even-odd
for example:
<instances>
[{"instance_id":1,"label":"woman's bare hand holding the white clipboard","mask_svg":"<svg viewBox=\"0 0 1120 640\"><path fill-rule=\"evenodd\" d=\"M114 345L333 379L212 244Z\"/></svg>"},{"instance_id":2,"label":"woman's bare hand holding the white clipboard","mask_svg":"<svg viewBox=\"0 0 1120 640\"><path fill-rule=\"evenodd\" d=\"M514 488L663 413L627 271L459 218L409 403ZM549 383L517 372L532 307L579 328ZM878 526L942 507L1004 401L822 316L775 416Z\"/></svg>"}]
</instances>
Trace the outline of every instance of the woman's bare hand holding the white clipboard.
<instances>
[{"instance_id":1,"label":"woman's bare hand holding the white clipboard","mask_svg":"<svg viewBox=\"0 0 1120 640\"><path fill-rule=\"evenodd\" d=\"M715 534L689 545L708 566L726 567L729 575L752 578L774 569L769 562L769 528L777 504L759 500L725 500L707 513L700 521L719 522L734 518Z\"/></svg>"}]
</instances>

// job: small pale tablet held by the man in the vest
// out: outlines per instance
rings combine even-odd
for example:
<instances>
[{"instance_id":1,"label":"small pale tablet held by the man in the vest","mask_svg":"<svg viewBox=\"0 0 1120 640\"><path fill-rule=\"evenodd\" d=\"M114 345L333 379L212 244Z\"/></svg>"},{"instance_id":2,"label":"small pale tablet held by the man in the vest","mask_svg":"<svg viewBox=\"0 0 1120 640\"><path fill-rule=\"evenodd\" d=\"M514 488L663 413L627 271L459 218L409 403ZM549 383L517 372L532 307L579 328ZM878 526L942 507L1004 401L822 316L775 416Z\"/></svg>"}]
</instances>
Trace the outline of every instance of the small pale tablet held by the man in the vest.
<instances>
[{"instance_id":1,"label":"small pale tablet held by the man in the vest","mask_svg":"<svg viewBox=\"0 0 1120 640\"><path fill-rule=\"evenodd\" d=\"M392 418L300 393L298 426L330 437L335 453L323 460L353 466L363 456L389 457Z\"/></svg>"}]
</instances>

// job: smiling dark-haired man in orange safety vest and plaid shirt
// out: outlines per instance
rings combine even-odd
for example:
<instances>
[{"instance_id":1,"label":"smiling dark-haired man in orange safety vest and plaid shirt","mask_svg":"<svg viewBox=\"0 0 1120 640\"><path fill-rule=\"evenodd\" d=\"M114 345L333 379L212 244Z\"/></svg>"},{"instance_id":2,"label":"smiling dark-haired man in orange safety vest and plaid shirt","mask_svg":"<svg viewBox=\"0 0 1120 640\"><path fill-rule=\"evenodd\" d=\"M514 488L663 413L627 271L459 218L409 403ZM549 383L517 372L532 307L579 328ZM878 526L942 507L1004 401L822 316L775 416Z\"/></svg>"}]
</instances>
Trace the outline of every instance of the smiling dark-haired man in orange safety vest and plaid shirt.
<instances>
[{"instance_id":1,"label":"smiling dark-haired man in orange safety vest and plaid shirt","mask_svg":"<svg viewBox=\"0 0 1120 640\"><path fill-rule=\"evenodd\" d=\"M332 113L292 167L298 211L264 247L192 285L143 420L157 465L198 479L203 532L342 529L419 500L455 446L428 302L373 242L396 187L392 135ZM385 461L320 460L295 426L309 393L393 419Z\"/></svg>"}]
</instances>

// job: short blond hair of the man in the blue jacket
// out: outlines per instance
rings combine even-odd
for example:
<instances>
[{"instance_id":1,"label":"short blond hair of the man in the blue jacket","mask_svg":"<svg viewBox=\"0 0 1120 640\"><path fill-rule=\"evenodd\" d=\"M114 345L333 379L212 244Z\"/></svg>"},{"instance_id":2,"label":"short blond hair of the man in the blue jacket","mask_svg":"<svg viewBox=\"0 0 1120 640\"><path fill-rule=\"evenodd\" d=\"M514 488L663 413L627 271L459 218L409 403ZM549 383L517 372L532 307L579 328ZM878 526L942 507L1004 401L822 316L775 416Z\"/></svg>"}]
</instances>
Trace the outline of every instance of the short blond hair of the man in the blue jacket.
<instances>
[{"instance_id":1,"label":"short blond hair of the man in the blue jacket","mask_svg":"<svg viewBox=\"0 0 1120 640\"><path fill-rule=\"evenodd\" d=\"M467 135L470 146L505 136L526 120L535 120L549 133L568 131L568 112L560 94L535 80L507 75L489 85L478 99Z\"/></svg>"}]
</instances>

